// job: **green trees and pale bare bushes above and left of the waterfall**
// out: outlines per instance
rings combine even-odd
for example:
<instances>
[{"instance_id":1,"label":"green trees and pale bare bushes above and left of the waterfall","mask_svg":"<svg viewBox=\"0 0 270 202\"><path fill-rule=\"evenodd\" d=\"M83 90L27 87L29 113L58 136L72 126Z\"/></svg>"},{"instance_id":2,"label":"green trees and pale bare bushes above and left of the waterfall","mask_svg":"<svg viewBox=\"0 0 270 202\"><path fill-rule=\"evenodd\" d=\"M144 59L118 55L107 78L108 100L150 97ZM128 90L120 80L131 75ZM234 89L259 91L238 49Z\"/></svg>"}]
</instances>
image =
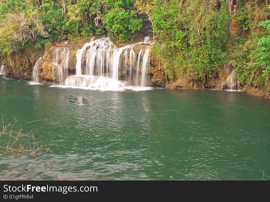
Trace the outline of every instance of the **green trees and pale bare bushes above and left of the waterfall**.
<instances>
[{"instance_id":1,"label":"green trees and pale bare bushes above and left of the waterfall","mask_svg":"<svg viewBox=\"0 0 270 202\"><path fill-rule=\"evenodd\" d=\"M3 0L0 3L0 52L17 51L51 40L108 33L126 41L140 29L131 0Z\"/></svg>"}]
</instances>

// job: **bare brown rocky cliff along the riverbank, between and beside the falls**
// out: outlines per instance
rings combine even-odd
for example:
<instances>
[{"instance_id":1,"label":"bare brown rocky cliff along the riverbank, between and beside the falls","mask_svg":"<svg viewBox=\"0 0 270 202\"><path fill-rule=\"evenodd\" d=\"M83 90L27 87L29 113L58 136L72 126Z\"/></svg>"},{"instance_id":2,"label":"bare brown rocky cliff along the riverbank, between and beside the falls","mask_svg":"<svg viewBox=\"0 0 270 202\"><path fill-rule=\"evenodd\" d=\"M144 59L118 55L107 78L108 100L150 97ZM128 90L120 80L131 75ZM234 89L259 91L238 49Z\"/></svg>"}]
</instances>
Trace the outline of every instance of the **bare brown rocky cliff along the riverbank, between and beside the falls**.
<instances>
[{"instance_id":1,"label":"bare brown rocky cliff along the riverbank, between and beside the falls","mask_svg":"<svg viewBox=\"0 0 270 202\"><path fill-rule=\"evenodd\" d=\"M102 36L100 36L102 37ZM97 38L100 38L97 37ZM97 39L95 38L95 39ZM31 79L31 73L36 61L44 55L44 58L38 63L37 71L41 83L63 83L64 77L60 79L59 73L56 68L56 63L63 63L63 58L68 54L68 59L65 62L67 66L67 76L75 74L76 67L76 51L81 49L82 46L93 39L89 38L86 41L77 42L52 42L50 46L42 47L40 49L35 49L34 47L27 48L23 53L11 53L6 58L1 58L2 64L7 67L7 75L10 77L17 77L21 80ZM135 39L130 43L143 42L143 35L138 34ZM114 42L117 47L123 47L128 44ZM145 44L138 44L133 47L134 53L138 54L141 49L145 49ZM58 54L58 55L57 55ZM129 56L128 56L129 57ZM82 59L82 64L86 62L87 58ZM129 58L128 58L129 59ZM122 58L121 58L122 60ZM127 70L119 70L119 79L125 80L125 75ZM170 80L164 70L162 62L158 58L151 57L150 51L150 66L148 69L148 82L147 85L161 86L165 88L174 89L199 89L199 88L210 88L210 89L225 89L227 85L228 75L230 74L230 69L228 65L223 65L220 68L220 72L214 73L211 77L206 77L203 79L193 78L192 76L180 77L176 76L174 80ZM60 81L63 80L63 81ZM135 84L135 81L131 80L131 84ZM243 89L244 91L263 96L270 99L270 88L260 88L257 85L249 86Z\"/></svg>"}]
</instances>

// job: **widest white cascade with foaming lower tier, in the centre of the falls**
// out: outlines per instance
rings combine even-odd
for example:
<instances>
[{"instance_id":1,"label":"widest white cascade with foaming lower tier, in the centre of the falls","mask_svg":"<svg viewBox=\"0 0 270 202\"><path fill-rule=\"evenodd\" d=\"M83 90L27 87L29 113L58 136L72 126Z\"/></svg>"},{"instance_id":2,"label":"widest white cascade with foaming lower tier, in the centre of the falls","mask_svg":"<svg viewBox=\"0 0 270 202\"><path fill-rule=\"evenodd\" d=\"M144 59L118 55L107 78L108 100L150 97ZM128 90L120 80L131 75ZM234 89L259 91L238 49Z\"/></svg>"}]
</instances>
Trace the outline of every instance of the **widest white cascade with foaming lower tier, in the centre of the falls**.
<instances>
[{"instance_id":1,"label":"widest white cascade with foaming lower tier, in the centre of the falls","mask_svg":"<svg viewBox=\"0 0 270 202\"><path fill-rule=\"evenodd\" d=\"M84 44L76 52L76 75L67 77L65 86L80 88L118 89L128 85L136 72L136 85L145 86L146 71L149 65L149 38L145 42L116 48L108 38L100 38ZM134 46L145 44L135 54ZM118 72L123 79L118 80ZM141 75L139 77L139 72Z\"/></svg>"}]
</instances>

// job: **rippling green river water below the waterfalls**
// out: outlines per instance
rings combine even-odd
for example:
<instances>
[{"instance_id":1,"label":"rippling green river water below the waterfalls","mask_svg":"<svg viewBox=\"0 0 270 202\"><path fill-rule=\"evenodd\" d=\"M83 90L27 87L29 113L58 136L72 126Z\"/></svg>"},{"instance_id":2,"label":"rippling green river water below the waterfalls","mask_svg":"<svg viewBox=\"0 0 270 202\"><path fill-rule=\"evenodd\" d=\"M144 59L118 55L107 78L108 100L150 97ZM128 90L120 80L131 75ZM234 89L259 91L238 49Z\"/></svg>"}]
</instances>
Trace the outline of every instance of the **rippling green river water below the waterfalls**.
<instances>
[{"instance_id":1,"label":"rippling green river water below the waterfalls","mask_svg":"<svg viewBox=\"0 0 270 202\"><path fill-rule=\"evenodd\" d=\"M59 161L62 180L270 180L270 101L243 92L64 89L1 75L0 115L50 147L39 157ZM0 180L54 179L36 160L0 156Z\"/></svg>"}]
</instances>

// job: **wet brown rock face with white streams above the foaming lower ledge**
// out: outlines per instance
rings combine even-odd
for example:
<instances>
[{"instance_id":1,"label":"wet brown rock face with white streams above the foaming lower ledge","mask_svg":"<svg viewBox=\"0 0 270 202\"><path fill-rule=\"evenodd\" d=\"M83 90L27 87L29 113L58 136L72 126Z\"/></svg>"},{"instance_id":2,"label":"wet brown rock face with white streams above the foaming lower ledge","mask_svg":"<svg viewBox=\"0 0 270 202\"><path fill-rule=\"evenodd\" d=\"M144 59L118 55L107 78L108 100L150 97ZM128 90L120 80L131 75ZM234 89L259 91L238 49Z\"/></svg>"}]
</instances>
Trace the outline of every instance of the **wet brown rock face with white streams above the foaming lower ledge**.
<instances>
[{"instance_id":1,"label":"wet brown rock face with white streams above the foaming lower ledge","mask_svg":"<svg viewBox=\"0 0 270 202\"><path fill-rule=\"evenodd\" d=\"M149 62L147 62L151 46L149 38L146 37L145 41L140 38L133 42L114 44L107 38L99 37L73 45L68 42L53 43L35 72L38 74L39 82L50 80L62 85L68 76L77 73L76 70L79 75L112 77L113 69L117 66L115 58L119 58L118 79L129 81L133 85L142 85L142 83L152 85L149 82L151 73L148 71ZM117 54L114 55L115 53ZM81 58L80 69L76 67L78 58ZM146 76L142 77L142 74Z\"/></svg>"}]
</instances>

